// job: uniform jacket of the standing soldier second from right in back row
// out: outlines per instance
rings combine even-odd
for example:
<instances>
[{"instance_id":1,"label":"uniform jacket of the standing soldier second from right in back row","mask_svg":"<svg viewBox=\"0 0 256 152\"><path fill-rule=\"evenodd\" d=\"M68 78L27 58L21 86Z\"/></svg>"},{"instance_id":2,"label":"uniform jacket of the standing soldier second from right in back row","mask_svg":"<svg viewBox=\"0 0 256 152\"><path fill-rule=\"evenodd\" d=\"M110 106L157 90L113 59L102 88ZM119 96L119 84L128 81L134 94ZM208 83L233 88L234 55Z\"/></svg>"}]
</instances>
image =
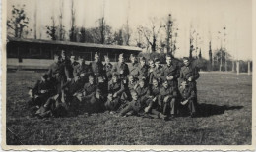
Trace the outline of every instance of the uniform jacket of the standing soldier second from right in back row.
<instances>
[{"instance_id":1,"label":"uniform jacket of the standing soldier second from right in back row","mask_svg":"<svg viewBox=\"0 0 256 152\"><path fill-rule=\"evenodd\" d=\"M161 70L161 76L163 76L162 78L165 78L166 76L173 76L171 81L177 81L179 75L179 68L177 65L165 65Z\"/></svg>"}]
</instances>

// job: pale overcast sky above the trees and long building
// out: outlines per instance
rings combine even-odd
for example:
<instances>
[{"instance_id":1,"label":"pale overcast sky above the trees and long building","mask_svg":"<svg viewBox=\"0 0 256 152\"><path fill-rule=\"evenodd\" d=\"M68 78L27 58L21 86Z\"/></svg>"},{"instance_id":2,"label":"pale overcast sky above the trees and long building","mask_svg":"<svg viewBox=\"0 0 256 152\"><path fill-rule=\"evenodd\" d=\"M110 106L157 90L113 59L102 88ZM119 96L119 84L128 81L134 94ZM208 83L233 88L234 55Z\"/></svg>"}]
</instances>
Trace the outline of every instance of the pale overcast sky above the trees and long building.
<instances>
[{"instance_id":1,"label":"pale overcast sky above the trees and long building","mask_svg":"<svg viewBox=\"0 0 256 152\"><path fill-rule=\"evenodd\" d=\"M37 30L41 30L42 39L47 39L45 25L50 25L52 16L59 15L60 0L8 0L7 14L10 17L12 5L26 4L28 17L31 19L30 27L33 28L35 1L37 1ZM104 15L106 23L114 30L128 20L133 33L136 33L137 26L149 25L150 18L157 17L161 21L171 13L179 28L177 38L179 49L175 56L188 56L189 33L192 25L201 38L198 40L198 46L202 48L204 58L208 59L210 40L213 50L220 47L221 40L217 38L218 36L223 37L223 45L234 59L252 58L251 0L74 0L74 2L78 26L94 27L96 20ZM70 6L71 1L64 0L63 24L66 29L71 24ZM226 27L225 43L224 26ZM222 36L218 31L222 32Z\"/></svg>"}]
</instances>

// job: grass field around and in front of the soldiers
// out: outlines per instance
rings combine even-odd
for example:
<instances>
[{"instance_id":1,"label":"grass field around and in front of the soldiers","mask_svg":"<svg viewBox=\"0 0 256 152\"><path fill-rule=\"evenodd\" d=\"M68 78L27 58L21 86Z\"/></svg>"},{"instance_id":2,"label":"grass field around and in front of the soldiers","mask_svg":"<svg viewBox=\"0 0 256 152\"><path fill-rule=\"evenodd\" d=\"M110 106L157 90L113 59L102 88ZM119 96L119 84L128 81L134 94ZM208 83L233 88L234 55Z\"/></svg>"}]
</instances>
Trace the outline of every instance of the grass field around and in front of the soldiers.
<instances>
[{"instance_id":1,"label":"grass field around and in front of the soldiers","mask_svg":"<svg viewBox=\"0 0 256 152\"><path fill-rule=\"evenodd\" d=\"M32 118L27 87L41 73L7 73L8 145L241 145L251 144L252 76L202 73L197 118L172 121L116 118L108 112L69 118Z\"/></svg>"}]
</instances>

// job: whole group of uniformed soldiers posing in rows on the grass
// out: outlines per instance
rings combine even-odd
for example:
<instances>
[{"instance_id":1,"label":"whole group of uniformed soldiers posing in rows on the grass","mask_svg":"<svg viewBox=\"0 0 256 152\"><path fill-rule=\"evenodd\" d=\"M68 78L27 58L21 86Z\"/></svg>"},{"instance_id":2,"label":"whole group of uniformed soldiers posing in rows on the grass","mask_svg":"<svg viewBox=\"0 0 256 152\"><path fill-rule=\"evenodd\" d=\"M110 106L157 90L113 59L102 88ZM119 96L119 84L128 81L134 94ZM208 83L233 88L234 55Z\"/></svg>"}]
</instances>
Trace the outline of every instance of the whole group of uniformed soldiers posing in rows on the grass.
<instances>
[{"instance_id":1,"label":"whole group of uniformed soldiers posing in rows on the grass","mask_svg":"<svg viewBox=\"0 0 256 152\"><path fill-rule=\"evenodd\" d=\"M182 114L197 114L198 69L189 58L183 64L174 62L166 54L166 64L160 59L130 55L131 63L124 62L123 54L112 65L107 56L104 64L99 55L86 64L83 57L64 50L54 55L54 63L30 88L32 114L40 118L62 117L81 113L110 111L120 116L149 116L163 120Z\"/></svg>"}]
</instances>

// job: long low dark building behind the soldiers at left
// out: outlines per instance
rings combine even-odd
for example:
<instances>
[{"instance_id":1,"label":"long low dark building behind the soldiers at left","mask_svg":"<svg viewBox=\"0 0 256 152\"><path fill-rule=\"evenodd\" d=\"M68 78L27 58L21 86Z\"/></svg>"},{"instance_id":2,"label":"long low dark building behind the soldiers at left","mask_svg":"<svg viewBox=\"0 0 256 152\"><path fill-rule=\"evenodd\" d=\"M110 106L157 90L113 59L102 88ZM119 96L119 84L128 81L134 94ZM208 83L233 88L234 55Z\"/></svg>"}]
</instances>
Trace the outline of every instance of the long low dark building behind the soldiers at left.
<instances>
[{"instance_id":1,"label":"long low dark building behind the soldiers at left","mask_svg":"<svg viewBox=\"0 0 256 152\"><path fill-rule=\"evenodd\" d=\"M138 55L142 49L132 46L103 45L95 43L78 43L38 39L20 39L8 37L7 68L8 69L46 69L53 62L53 55L65 50L68 55L83 56L87 62L94 60L97 52L101 60L108 56L111 62L124 54L126 62L131 53Z\"/></svg>"}]
</instances>

